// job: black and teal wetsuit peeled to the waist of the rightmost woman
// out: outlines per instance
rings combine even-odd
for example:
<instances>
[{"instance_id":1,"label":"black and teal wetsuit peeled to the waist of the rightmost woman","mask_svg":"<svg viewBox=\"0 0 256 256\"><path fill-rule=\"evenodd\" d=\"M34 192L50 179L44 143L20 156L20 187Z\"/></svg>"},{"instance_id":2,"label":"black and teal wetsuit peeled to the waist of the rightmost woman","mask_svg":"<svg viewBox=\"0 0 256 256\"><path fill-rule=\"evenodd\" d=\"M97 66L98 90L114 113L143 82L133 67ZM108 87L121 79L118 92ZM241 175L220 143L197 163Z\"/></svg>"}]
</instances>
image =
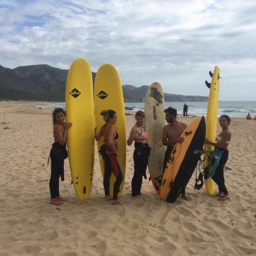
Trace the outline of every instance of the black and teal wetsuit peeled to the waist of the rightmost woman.
<instances>
[{"instance_id":1,"label":"black and teal wetsuit peeled to the waist of the rightmost woman","mask_svg":"<svg viewBox=\"0 0 256 256\"><path fill-rule=\"evenodd\" d=\"M226 148L216 147L212 154L213 158L215 159L212 166L217 166L216 168L211 170L211 173L215 171L214 175L212 176L212 180L217 183L219 187L219 192L223 192L224 195L227 195L228 191L225 186L224 166L228 160L228 150Z\"/></svg>"}]
</instances>

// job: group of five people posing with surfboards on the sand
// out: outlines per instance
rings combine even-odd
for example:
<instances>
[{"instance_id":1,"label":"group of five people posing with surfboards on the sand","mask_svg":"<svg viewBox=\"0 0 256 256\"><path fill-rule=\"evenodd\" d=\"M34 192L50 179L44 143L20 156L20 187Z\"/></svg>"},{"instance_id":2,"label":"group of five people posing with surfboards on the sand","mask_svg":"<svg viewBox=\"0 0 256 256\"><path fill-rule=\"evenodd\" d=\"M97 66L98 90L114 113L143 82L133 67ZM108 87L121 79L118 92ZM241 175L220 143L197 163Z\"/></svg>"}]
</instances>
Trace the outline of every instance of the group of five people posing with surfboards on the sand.
<instances>
[{"instance_id":1,"label":"group of five people posing with surfboards on the sand","mask_svg":"<svg viewBox=\"0 0 256 256\"><path fill-rule=\"evenodd\" d=\"M162 144L167 146L165 155L163 156L163 172L170 153L172 152L176 143L182 143L184 138L181 137L182 132L186 129L187 125L179 122L177 117L177 110L174 108L167 108L164 110L165 120L167 125L163 127L162 131ZM119 135L114 129L114 124L117 122L117 114L114 110L103 110L100 113L105 121L101 126L98 134L95 128L95 139L98 141L103 136L103 144L100 147L100 154L104 160L104 177L103 187L105 192L105 199L111 200L112 204L120 205L118 200L118 191L123 180L121 168L117 161L118 156L118 138ZM51 157L51 178L50 178L50 194L51 204L61 205L64 201L59 195L59 177L64 179L64 159L68 157L66 150L68 130L72 123L66 123L66 113L63 109L58 108L53 111L53 135L54 143L52 144L50 157ZM144 127L145 114L143 111L138 111L135 114L136 123L132 127L127 145L134 143L134 175L132 178L132 197L141 196L142 177L145 179L148 157L150 156L151 148L147 144L147 133ZM224 166L228 159L228 144L231 139L231 132L228 127L230 118L227 115L222 115L219 119L222 127L222 132L218 135L215 142L205 139L205 144L215 146L215 151L221 152L221 157L218 160L218 166L212 179L218 184L219 193L217 194L219 200L229 199L228 191L225 186L224 180ZM113 186L113 197L110 195L110 177L112 173L115 175L116 180ZM186 199L185 187L182 189L182 198Z\"/></svg>"}]
</instances>

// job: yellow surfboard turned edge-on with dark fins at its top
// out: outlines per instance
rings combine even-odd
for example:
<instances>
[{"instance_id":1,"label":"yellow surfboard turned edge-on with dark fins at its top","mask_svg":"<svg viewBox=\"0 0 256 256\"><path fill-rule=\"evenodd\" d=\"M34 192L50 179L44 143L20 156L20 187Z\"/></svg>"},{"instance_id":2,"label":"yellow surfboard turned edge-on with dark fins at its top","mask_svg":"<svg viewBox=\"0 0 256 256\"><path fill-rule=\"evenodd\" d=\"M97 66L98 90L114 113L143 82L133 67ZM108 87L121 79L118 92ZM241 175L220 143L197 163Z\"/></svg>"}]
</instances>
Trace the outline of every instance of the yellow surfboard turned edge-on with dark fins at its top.
<instances>
[{"instance_id":1,"label":"yellow surfboard turned edge-on with dark fins at its top","mask_svg":"<svg viewBox=\"0 0 256 256\"><path fill-rule=\"evenodd\" d=\"M214 73L209 72L211 83L205 81L206 86L210 88L207 117L206 117L206 135L205 137L210 141L216 141L217 133L217 116L219 105L219 90L220 90L220 68L215 67ZM205 150L208 152L214 151L214 146L205 145ZM205 169L209 168L210 160L207 158L204 162ZM214 181L211 178L205 179L205 188L209 196L214 195Z\"/></svg>"}]
</instances>

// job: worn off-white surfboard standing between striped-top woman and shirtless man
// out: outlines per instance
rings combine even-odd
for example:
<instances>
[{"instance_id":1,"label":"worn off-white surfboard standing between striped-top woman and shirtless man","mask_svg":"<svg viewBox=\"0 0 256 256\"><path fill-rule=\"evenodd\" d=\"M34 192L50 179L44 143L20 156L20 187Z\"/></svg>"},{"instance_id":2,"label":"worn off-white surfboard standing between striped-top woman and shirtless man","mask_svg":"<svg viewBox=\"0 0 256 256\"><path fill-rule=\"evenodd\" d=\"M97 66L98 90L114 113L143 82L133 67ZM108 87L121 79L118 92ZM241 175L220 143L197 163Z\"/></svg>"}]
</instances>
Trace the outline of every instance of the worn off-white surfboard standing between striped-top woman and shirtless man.
<instances>
[{"instance_id":1,"label":"worn off-white surfboard standing between striped-top woman and shirtless man","mask_svg":"<svg viewBox=\"0 0 256 256\"><path fill-rule=\"evenodd\" d=\"M145 129L148 136L147 143L151 147L148 170L157 194L160 194L163 160L166 150L166 146L162 144L163 127L166 124L164 109L165 102L162 87L160 83L154 82L147 89L144 112Z\"/></svg>"}]
</instances>

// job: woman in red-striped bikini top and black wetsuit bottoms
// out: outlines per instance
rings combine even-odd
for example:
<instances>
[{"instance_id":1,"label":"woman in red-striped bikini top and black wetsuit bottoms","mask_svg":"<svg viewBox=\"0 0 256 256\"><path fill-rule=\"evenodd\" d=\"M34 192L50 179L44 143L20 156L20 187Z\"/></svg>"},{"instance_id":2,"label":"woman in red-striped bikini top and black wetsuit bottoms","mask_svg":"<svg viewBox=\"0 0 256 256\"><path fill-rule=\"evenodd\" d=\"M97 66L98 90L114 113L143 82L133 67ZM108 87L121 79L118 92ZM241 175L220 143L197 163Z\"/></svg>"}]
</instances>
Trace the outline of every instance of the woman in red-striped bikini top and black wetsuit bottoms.
<instances>
[{"instance_id":1,"label":"woman in red-striped bikini top and black wetsuit bottoms","mask_svg":"<svg viewBox=\"0 0 256 256\"><path fill-rule=\"evenodd\" d=\"M142 176L146 177L146 167L148 163L148 157L150 156L151 147L148 146L146 139L147 133L144 127L145 114L143 111L138 111L135 114L136 123L132 127L129 138L127 139L127 145L134 143L134 175L132 179L132 197L141 195Z\"/></svg>"}]
</instances>

